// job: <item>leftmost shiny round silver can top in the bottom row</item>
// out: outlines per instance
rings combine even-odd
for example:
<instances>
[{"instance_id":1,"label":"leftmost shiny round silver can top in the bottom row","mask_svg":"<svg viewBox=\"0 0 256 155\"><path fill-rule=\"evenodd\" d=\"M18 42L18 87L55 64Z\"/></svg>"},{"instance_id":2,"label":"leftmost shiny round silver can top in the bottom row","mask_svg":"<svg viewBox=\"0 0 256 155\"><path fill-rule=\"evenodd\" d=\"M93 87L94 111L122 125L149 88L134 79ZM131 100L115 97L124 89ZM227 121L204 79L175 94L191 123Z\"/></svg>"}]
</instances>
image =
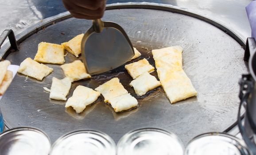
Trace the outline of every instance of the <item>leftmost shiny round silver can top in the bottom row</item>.
<instances>
[{"instance_id":1,"label":"leftmost shiny round silver can top in the bottom row","mask_svg":"<svg viewBox=\"0 0 256 155\"><path fill-rule=\"evenodd\" d=\"M0 155L49 155L50 139L37 128L12 128L0 135Z\"/></svg>"}]
</instances>

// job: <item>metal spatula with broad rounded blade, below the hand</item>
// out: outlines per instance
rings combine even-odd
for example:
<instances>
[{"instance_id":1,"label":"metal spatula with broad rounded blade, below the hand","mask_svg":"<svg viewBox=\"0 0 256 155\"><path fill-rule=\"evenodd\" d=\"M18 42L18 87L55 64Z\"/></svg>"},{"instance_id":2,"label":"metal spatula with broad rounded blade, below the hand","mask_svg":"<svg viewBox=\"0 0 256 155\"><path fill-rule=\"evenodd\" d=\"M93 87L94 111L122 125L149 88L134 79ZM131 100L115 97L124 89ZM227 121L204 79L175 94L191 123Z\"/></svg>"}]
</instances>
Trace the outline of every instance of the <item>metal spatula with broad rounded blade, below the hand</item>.
<instances>
[{"instance_id":1,"label":"metal spatula with broad rounded blade, below the hand","mask_svg":"<svg viewBox=\"0 0 256 155\"><path fill-rule=\"evenodd\" d=\"M96 19L82 39L81 54L87 72L93 75L128 62L134 56L134 50L120 25Z\"/></svg>"}]
</instances>

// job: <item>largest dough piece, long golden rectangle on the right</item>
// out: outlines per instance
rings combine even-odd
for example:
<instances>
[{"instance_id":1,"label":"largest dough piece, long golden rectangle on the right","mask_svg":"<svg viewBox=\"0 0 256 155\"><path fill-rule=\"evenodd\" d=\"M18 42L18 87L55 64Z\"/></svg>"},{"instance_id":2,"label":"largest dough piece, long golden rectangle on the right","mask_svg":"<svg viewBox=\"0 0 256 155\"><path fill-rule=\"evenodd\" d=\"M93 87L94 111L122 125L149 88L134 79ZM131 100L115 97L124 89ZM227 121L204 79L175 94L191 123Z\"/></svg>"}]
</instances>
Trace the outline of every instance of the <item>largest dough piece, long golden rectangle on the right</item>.
<instances>
[{"instance_id":1,"label":"largest dough piece, long golden rectangle on the right","mask_svg":"<svg viewBox=\"0 0 256 155\"><path fill-rule=\"evenodd\" d=\"M158 77L171 103L197 96L189 77L182 70L182 47L152 50L152 54Z\"/></svg>"}]
</instances>

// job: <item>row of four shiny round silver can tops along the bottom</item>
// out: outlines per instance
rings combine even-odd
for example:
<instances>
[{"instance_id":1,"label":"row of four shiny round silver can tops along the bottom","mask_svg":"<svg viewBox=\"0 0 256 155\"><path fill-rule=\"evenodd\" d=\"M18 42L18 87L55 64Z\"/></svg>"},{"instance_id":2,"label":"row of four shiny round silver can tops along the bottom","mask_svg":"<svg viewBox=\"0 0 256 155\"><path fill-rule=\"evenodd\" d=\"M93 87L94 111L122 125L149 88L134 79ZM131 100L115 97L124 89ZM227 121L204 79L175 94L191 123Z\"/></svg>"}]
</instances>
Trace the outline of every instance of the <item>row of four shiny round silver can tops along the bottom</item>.
<instances>
[{"instance_id":1,"label":"row of four shiny round silver can tops along the bottom","mask_svg":"<svg viewBox=\"0 0 256 155\"><path fill-rule=\"evenodd\" d=\"M171 132L141 128L117 143L105 133L77 130L50 147L48 136L36 128L14 128L0 135L0 155L252 155L244 142L225 133L195 137L184 148Z\"/></svg>"}]
</instances>

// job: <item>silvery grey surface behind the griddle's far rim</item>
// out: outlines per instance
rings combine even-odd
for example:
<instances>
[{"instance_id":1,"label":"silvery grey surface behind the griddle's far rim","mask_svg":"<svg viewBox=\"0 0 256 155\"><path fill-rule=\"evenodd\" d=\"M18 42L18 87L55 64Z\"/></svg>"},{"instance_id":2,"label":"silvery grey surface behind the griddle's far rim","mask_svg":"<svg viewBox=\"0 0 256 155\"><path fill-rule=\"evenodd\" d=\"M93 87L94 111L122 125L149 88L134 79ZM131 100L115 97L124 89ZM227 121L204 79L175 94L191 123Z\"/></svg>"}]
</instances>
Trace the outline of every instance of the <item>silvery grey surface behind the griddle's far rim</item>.
<instances>
[{"instance_id":1,"label":"silvery grey surface behind the griddle's far rim","mask_svg":"<svg viewBox=\"0 0 256 155\"><path fill-rule=\"evenodd\" d=\"M252 0L108 0L107 4L154 2L186 8L214 19L235 31L242 39L250 36L245 7ZM12 29L19 34L41 19L66 12L62 0L0 0L0 33Z\"/></svg>"}]
</instances>

